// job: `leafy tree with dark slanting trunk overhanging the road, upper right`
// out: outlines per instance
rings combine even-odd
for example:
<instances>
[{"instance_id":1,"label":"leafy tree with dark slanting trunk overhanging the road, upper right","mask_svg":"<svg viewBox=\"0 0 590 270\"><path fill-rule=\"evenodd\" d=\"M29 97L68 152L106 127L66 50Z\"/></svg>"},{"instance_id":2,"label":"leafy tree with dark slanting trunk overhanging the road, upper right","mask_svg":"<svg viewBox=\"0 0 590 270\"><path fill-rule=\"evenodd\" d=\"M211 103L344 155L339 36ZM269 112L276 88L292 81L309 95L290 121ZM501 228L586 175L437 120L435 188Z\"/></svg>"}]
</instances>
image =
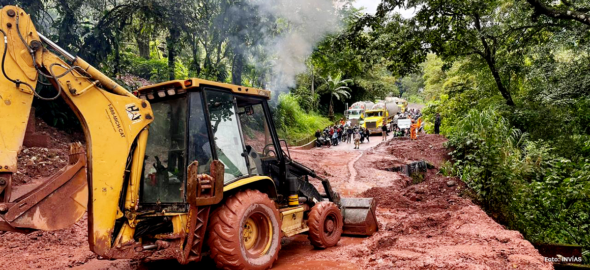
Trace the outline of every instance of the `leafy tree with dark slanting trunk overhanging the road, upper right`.
<instances>
[{"instance_id":1,"label":"leafy tree with dark slanting trunk overhanging the road, upper right","mask_svg":"<svg viewBox=\"0 0 590 270\"><path fill-rule=\"evenodd\" d=\"M414 17L403 19L390 14L395 8L416 8ZM546 37L546 32L563 25L547 21L533 22L527 6L504 0L383 0L375 17L364 18L361 25L375 31L358 47L384 51L392 61L390 70L407 74L415 71L428 52L445 62L445 68L461 58L484 65L494 80L496 91L509 106L514 105L513 57ZM363 28L354 28L358 31ZM413 68L412 68L413 67Z\"/></svg>"}]
</instances>

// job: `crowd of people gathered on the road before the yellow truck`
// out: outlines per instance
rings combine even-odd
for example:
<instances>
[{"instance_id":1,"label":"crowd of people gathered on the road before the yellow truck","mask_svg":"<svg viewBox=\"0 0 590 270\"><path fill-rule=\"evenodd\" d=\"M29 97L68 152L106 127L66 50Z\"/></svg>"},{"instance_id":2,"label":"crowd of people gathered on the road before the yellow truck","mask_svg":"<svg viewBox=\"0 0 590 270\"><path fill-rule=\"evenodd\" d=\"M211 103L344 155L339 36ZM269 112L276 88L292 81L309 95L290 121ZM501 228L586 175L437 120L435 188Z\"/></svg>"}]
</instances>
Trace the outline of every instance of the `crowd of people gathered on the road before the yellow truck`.
<instances>
[{"instance_id":1,"label":"crowd of people gathered on the road before the yellow truck","mask_svg":"<svg viewBox=\"0 0 590 270\"><path fill-rule=\"evenodd\" d=\"M371 133L368 129L364 129L359 126L352 126L350 120L345 121L343 118L340 119L339 123L326 127L323 131L316 130L316 139L320 137L328 137L331 139L331 145L337 145L339 142L354 143L354 149L359 149L360 143L365 139L369 141L369 135Z\"/></svg>"}]
</instances>

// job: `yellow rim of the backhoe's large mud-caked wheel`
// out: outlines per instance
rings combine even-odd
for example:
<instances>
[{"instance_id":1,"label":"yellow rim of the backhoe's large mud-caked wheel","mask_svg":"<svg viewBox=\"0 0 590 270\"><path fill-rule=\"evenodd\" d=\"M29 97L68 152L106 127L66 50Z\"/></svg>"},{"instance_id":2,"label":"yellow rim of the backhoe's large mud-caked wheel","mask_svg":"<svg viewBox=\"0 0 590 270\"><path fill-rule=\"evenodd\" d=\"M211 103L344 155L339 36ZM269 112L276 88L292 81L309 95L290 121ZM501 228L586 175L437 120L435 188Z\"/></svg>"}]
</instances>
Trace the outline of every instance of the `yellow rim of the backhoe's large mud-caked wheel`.
<instances>
[{"instance_id":1,"label":"yellow rim of the backhoe's large mud-caked wheel","mask_svg":"<svg viewBox=\"0 0 590 270\"><path fill-rule=\"evenodd\" d=\"M270 219L260 212L252 213L242 226L242 241L249 257L260 257L270 249L273 226Z\"/></svg>"}]
</instances>

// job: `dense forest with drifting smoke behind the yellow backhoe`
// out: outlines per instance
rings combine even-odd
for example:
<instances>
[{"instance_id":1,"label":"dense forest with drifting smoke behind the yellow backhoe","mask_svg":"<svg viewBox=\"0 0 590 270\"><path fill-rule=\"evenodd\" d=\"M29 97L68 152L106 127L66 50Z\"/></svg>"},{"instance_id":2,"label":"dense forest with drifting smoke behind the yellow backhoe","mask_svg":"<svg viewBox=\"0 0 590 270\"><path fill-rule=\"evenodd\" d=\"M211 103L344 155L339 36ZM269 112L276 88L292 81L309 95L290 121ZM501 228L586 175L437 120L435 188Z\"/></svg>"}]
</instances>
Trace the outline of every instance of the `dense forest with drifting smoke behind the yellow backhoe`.
<instances>
[{"instance_id":1,"label":"dense forest with drifting smoke behind the yellow backhoe","mask_svg":"<svg viewBox=\"0 0 590 270\"><path fill-rule=\"evenodd\" d=\"M337 42L339 29L360 17L351 2L2 0L0 4L21 6L32 15L38 31L129 90L198 77L268 88L275 105L280 93L293 91L307 112L327 116L342 113L345 104L357 98L398 94L396 78L384 65L363 61L349 44ZM329 77L352 80L351 95L322 91L329 83L323 78ZM51 90L40 91L50 94ZM333 105L320 106L324 100L333 100ZM64 127L67 124L61 123L73 120L62 109L65 106L36 102L35 107L49 123Z\"/></svg>"}]
</instances>

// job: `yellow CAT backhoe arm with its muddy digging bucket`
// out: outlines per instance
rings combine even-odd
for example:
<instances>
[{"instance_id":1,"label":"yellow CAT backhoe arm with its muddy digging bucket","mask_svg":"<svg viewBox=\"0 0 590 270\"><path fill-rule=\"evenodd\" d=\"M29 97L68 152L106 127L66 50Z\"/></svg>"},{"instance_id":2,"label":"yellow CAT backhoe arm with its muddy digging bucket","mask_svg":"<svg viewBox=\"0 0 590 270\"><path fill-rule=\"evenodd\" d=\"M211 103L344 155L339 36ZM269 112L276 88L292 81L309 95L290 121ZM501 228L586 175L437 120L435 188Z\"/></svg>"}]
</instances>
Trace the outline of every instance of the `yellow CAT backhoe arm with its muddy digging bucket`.
<instances>
[{"instance_id":1,"label":"yellow CAT backhoe arm with its muddy digging bucket","mask_svg":"<svg viewBox=\"0 0 590 270\"><path fill-rule=\"evenodd\" d=\"M145 257L136 251L124 253L122 244L132 242L132 225L114 227L124 210L137 209L148 124L153 118L150 104L42 37L21 8L4 6L0 29L4 35L0 47L4 52L0 75L0 231L67 228L87 208L89 243L95 253L106 258ZM12 174L17 172L17 155L32 100L34 96L54 98L35 93L38 76L48 78L80 120L86 152L82 144L73 144L68 166L26 195L12 199Z\"/></svg>"}]
</instances>

